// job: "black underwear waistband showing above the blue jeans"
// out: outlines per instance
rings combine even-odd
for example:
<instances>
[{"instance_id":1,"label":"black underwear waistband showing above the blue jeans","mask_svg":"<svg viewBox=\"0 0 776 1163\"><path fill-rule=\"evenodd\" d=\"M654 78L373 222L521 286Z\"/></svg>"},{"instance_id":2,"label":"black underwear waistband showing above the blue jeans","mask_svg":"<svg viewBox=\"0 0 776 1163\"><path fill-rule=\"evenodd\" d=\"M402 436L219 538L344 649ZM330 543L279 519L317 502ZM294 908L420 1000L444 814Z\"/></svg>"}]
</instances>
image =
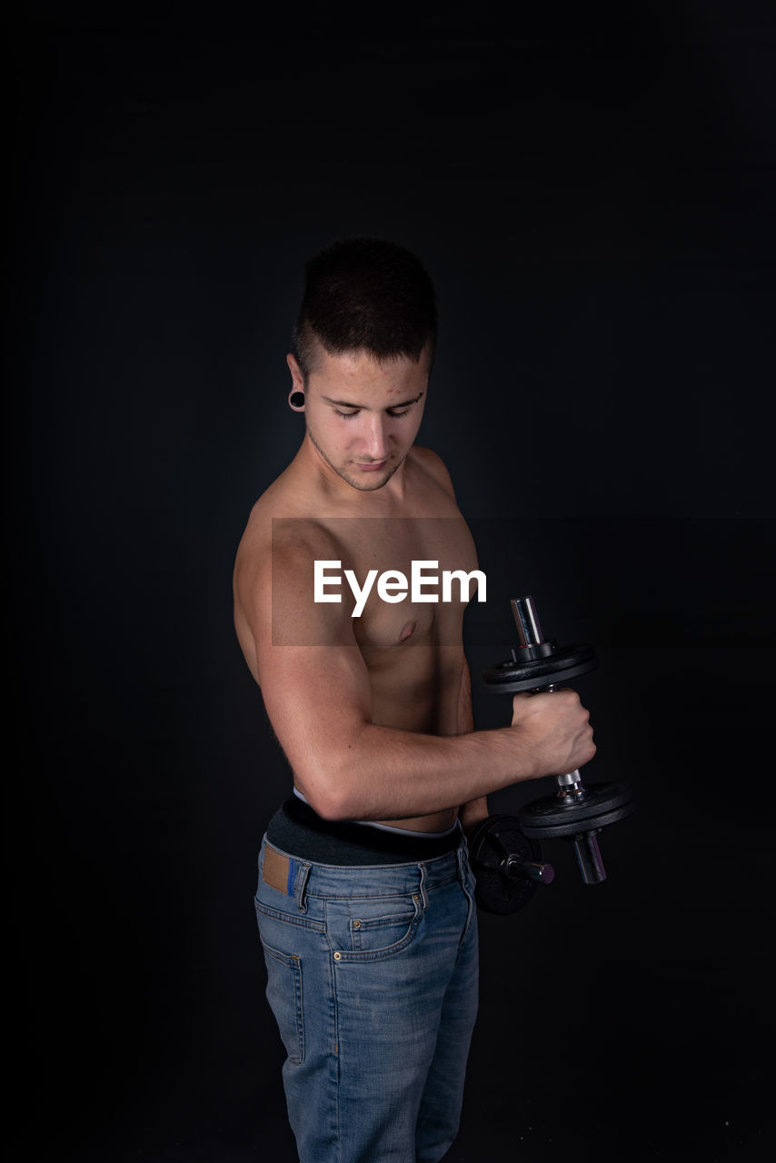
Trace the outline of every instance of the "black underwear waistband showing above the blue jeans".
<instances>
[{"instance_id":1,"label":"black underwear waistband showing above the blue jeans","mask_svg":"<svg viewBox=\"0 0 776 1163\"><path fill-rule=\"evenodd\" d=\"M272 816L266 839L273 848L313 864L407 864L433 861L454 852L461 829L446 836L397 835L365 823L323 820L308 804L292 795Z\"/></svg>"}]
</instances>

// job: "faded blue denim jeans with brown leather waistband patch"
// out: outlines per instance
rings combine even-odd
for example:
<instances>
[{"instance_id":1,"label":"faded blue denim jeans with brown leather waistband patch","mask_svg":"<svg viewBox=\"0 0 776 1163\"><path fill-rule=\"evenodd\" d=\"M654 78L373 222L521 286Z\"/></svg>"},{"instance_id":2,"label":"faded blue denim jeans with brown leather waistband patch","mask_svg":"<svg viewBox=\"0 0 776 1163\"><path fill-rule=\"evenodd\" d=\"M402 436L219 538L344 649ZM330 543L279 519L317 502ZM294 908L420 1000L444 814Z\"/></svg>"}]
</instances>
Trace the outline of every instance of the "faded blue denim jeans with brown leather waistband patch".
<instances>
[{"instance_id":1,"label":"faded blue denim jeans with brown leather waistband patch","mask_svg":"<svg viewBox=\"0 0 776 1163\"><path fill-rule=\"evenodd\" d=\"M265 840L256 913L300 1163L436 1163L477 1013L465 841L423 863L344 868Z\"/></svg>"}]
</instances>

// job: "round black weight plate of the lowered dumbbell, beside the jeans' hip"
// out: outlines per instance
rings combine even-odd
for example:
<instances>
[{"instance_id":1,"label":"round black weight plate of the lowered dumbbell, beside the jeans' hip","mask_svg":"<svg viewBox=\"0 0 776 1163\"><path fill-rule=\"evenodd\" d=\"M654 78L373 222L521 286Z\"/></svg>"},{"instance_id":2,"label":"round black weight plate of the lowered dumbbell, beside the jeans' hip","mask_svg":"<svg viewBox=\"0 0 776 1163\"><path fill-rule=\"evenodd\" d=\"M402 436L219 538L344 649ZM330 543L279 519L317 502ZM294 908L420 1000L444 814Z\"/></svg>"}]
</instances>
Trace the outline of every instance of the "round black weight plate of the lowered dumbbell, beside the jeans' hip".
<instances>
[{"instance_id":1,"label":"round black weight plate of the lowered dumbbell, beside the jeans' hip","mask_svg":"<svg viewBox=\"0 0 776 1163\"><path fill-rule=\"evenodd\" d=\"M475 828L469 840L471 871L477 882L475 900L486 913L506 916L525 908L537 885L527 878L504 876L498 865L508 855L524 861L541 861L541 849L520 830L513 815L491 815Z\"/></svg>"}]
</instances>

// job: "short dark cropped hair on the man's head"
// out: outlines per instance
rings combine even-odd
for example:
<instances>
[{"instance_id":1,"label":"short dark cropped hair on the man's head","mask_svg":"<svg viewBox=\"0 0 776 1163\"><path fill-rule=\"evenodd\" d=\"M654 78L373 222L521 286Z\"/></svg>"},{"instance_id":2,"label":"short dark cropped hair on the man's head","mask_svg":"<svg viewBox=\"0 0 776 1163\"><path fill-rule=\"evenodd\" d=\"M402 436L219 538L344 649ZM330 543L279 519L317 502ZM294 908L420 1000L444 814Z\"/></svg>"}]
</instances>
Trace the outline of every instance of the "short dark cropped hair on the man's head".
<instances>
[{"instance_id":1,"label":"short dark cropped hair on the man's head","mask_svg":"<svg viewBox=\"0 0 776 1163\"><path fill-rule=\"evenodd\" d=\"M384 238L346 238L305 264L293 354L307 378L314 340L330 355L420 359L436 342L436 295L419 258Z\"/></svg>"}]
</instances>

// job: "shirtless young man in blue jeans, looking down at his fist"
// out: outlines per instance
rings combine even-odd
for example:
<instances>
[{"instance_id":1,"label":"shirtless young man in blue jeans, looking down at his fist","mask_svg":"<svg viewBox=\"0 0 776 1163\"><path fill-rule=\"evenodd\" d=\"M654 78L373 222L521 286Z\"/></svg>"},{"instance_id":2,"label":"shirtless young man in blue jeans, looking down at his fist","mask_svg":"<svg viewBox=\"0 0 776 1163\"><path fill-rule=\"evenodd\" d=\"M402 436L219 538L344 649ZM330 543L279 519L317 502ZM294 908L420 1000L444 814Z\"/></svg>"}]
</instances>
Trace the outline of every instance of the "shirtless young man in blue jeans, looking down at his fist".
<instances>
[{"instance_id":1,"label":"shirtless young man in blue jeans, looking down at his fist","mask_svg":"<svg viewBox=\"0 0 776 1163\"><path fill-rule=\"evenodd\" d=\"M489 792L595 754L572 691L518 694L511 726L475 732L471 595L398 598L412 562L477 568L444 465L414 444L435 337L430 279L403 248L350 240L307 264L287 357L306 433L235 564L237 636L293 773L256 909L301 1163L442 1158L477 1008L464 833ZM326 600L316 562L341 578ZM394 586L353 616L346 570Z\"/></svg>"}]
</instances>

